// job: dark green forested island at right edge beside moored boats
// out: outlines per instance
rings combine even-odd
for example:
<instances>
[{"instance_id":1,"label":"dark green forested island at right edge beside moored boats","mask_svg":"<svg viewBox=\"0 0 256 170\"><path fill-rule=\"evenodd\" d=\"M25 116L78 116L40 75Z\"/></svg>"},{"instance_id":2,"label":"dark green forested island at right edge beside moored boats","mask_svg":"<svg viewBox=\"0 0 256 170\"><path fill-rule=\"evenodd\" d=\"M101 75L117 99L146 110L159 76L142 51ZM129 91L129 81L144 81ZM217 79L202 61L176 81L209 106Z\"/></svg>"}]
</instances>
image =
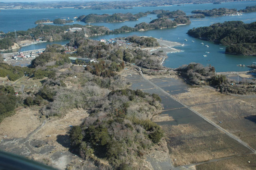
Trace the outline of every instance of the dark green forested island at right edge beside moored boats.
<instances>
[{"instance_id":1,"label":"dark green forested island at right edge beside moored boats","mask_svg":"<svg viewBox=\"0 0 256 170\"><path fill-rule=\"evenodd\" d=\"M256 55L256 22L228 21L211 26L193 28L188 35L217 44L227 45L227 54Z\"/></svg>"}]
</instances>

